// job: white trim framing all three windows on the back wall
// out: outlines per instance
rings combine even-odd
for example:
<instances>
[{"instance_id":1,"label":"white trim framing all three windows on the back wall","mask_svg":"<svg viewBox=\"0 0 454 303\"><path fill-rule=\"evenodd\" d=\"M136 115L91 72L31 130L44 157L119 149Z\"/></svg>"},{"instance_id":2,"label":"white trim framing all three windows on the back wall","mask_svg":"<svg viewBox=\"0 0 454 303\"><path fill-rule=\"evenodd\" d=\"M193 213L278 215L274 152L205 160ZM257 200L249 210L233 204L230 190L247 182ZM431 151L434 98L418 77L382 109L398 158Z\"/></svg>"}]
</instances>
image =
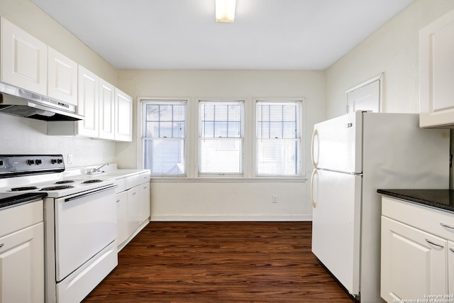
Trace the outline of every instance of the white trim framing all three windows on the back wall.
<instances>
[{"instance_id":1,"label":"white trim framing all three windows on the back wall","mask_svg":"<svg viewBox=\"0 0 454 303\"><path fill-rule=\"evenodd\" d=\"M166 102L182 102L186 103L185 116L185 142L184 142L184 162L185 175L152 175L155 182L305 182L306 171L305 161L310 151L306 150L305 131L305 106L306 99L304 97L250 97L250 98L207 98L207 97L137 97L138 105L136 108L136 142L137 142L137 167L144 168L145 165L145 145L143 140L143 131L145 128L145 117L143 117L143 102L154 101L162 103ZM243 138L242 138L242 174L199 174L199 101L242 101L243 102ZM300 175L258 175L256 169L257 162L257 102L258 101L300 101ZM309 136L309 135L308 135ZM310 155L309 155L310 156Z\"/></svg>"}]
</instances>

